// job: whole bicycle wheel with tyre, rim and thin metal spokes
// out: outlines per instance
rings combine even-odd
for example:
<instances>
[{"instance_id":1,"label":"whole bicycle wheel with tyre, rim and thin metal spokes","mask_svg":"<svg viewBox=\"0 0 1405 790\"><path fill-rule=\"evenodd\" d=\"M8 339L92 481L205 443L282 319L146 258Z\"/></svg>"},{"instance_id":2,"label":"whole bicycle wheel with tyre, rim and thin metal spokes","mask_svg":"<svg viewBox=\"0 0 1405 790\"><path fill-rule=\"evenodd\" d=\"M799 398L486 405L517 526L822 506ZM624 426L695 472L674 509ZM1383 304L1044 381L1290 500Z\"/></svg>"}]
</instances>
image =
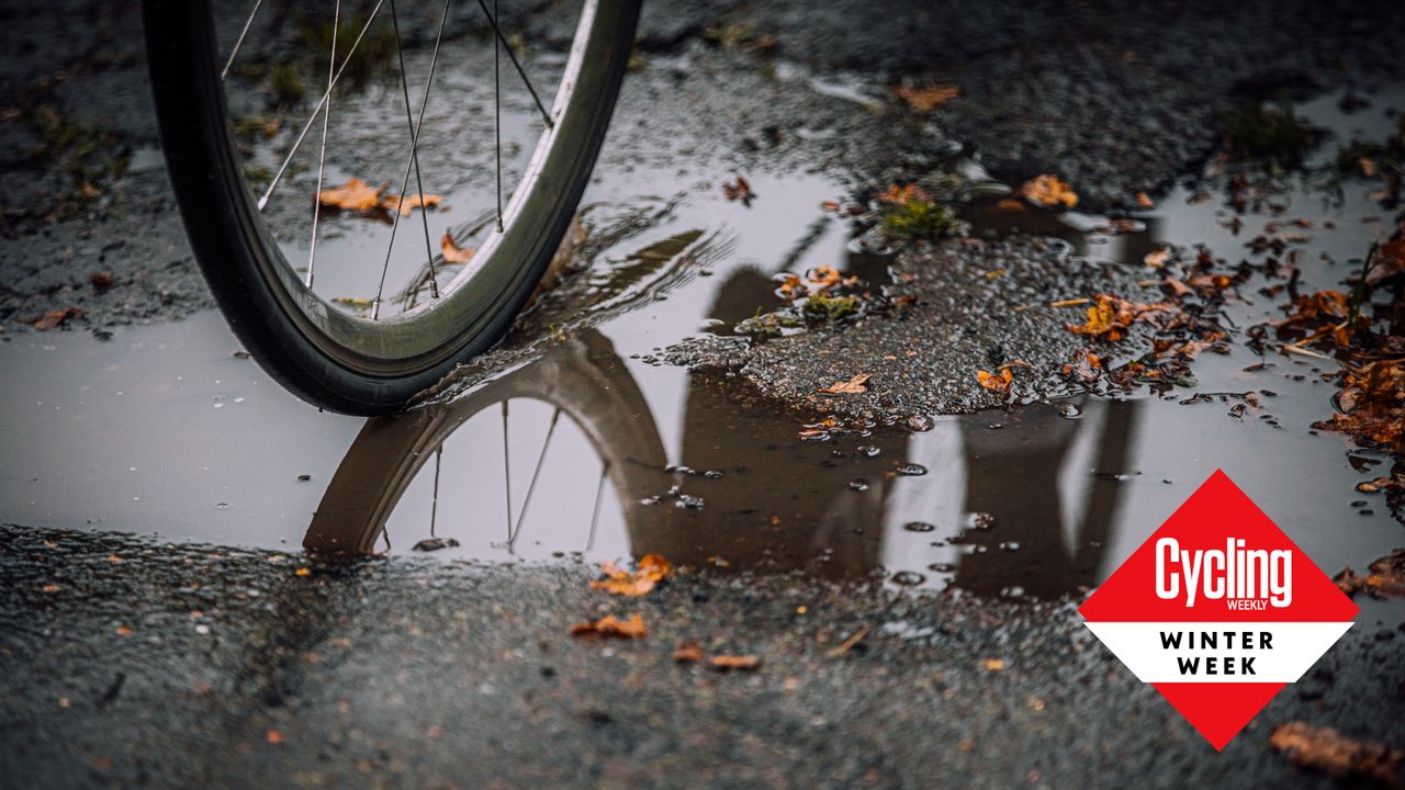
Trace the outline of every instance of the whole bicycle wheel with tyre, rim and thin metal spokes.
<instances>
[{"instance_id":1,"label":"whole bicycle wheel with tyre, rim and thin metal spokes","mask_svg":"<svg viewBox=\"0 0 1405 790\"><path fill-rule=\"evenodd\" d=\"M429 62L430 76L419 101L419 124L414 122L405 72L403 10L398 10L393 0L375 0L374 6L367 0L362 6L370 10L364 14L364 27L361 15L347 18L346 30L360 28L353 44L344 44L350 39L346 30L339 35L339 28L332 28L332 52L323 55L326 90L318 86L320 100L308 103L313 104L311 117L305 121L299 118L299 124L288 128L284 148L291 150L281 159L271 181L260 190L261 194L256 195L246 177L247 162L232 129L223 77L246 35L257 30L253 22L260 4L261 0L253 1L253 13L228 56L216 44L209 0L146 0L143 4L159 127L190 243L233 332L270 375L320 408L358 415L393 412L458 363L492 346L507 330L551 263L572 222L610 124L629 58L639 0L583 1L570 53L561 65L559 86L549 108L538 98L527 70L490 10L497 7L496 0L478 1L492 28L495 129L500 129L502 112L497 65L510 60L517 73L504 67L503 76L520 76L527 83L541 111L541 132L535 148L530 149L530 160L521 167L516 188L506 194L502 187L503 150L500 138L495 138L496 211L485 221L486 229L483 224L457 229L481 233L476 252L466 261L445 260L448 256L444 252L433 252L429 219L424 219L424 250L419 253L417 274L395 299L385 298L386 271L396 229L402 225L400 216L413 214L414 208L403 211L402 204L392 204L393 211L388 212L393 215L388 231L391 242L384 254L347 249L336 252L334 260L318 257L319 228L329 214L320 205L322 195L327 194L323 190L330 186L323 179L329 157L326 129L327 124L336 122L333 98L344 90L339 83L347 66L367 41L367 31L377 17L385 24L388 15L393 25L393 52L399 59L400 83L396 87L403 91L403 114L398 119L392 115L386 122L405 124L405 134L396 143L399 150L385 150L378 156L396 162L398 181L399 163L403 162L400 195L409 197L410 204L413 195L406 187L410 173L414 173L419 186L414 194L422 195L417 212L422 216L429 214L424 205L429 193L419 167L420 132L426 131L424 112L433 98L451 0L443 3L443 15L437 15L438 32ZM438 11L437 6L434 11ZM341 14L343 3L339 0L333 25L343 22ZM339 42L343 42L344 53L337 52ZM506 53L503 60L499 51ZM392 91L385 94L392 96ZM295 156L318 153L302 149L309 141L316 149L319 132L316 193L311 195L308 211L312 215L311 252L306 266L295 267L288 260L288 249L270 228L264 209L270 200L291 200L275 193L280 187L288 188L289 163ZM306 174L299 177L311 179ZM305 191L302 197L308 197ZM407 228L409 222L406 219ZM454 233L448 231L450 236ZM409 236L409 232L400 233L402 240ZM417 236L416 232L416 246ZM441 246L444 250L451 247L447 239ZM329 268L368 271L368 278L378 271L379 287L374 298L365 294L355 308L348 308L350 299L313 290L313 271Z\"/></svg>"}]
</instances>

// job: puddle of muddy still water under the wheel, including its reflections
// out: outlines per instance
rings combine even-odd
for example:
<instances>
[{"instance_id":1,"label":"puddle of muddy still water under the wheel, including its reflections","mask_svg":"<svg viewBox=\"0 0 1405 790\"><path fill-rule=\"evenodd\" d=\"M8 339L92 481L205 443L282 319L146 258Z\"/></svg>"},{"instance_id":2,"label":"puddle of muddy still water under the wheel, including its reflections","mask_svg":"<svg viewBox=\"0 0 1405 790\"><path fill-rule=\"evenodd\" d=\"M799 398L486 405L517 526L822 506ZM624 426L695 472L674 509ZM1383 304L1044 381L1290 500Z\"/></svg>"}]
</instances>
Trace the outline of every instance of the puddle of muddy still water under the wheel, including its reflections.
<instances>
[{"instance_id":1,"label":"puddle of muddy still water under the wheel, including its reflections","mask_svg":"<svg viewBox=\"0 0 1405 790\"><path fill-rule=\"evenodd\" d=\"M1377 136L1390 121L1340 117L1331 100L1308 110ZM1241 344L1201 356L1191 389L802 440L798 413L726 377L645 357L715 319L731 326L774 308L778 271L871 267L850 252L847 224L819 207L840 186L757 176L763 200L746 208L711 183L665 191L655 173L601 176L587 194L587 229L632 218L599 242L584 274L608 308L601 319L400 417L357 420L296 402L232 356L215 315L107 343L7 337L0 520L274 548L438 547L433 557L475 562L659 552L717 572L881 575L894 586L1048 597L1097 585L1222 468L1329 572L1401 544L1384 502L1353 489L1370 474L1353 464L1385 464L1384 474L1390 460L1308 430L1331 413L1335 388L1319 374L1335 363L1259 358ZM1336 287L1384 226L1361 222L1378 214L1364 191L1349 183L1331 204L1288 195L1284 216L1318 225L1304 247L1304 292ZM1235 236L1218 204L1177 190L1139 216L1141 232L1038 231L1096 259L1205 243L1234 261L1270 216L1246 216ZM1227 319L1243 328L1280 315L1277 302L1250 297L1228 305ZM1260 405L1231 415L1231 395L1248 391Z\"/></svg>"}]
</instances>

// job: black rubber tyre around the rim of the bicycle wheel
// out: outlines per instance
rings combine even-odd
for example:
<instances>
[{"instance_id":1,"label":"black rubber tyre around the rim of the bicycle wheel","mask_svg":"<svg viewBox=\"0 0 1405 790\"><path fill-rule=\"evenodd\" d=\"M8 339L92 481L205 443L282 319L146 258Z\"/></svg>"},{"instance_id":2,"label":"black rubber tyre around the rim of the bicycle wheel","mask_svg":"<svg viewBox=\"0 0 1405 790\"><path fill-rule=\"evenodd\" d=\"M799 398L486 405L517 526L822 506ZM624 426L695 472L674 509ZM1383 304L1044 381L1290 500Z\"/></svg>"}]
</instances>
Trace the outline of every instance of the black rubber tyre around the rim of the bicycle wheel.
<instances>
[{"instance_id":1,"label":"black rubber tyre around the rim of the bicycle wheel","mask_svg":"<svg viewBox=\"0 0 1405 790\"><path fill-rule=\"evenodd\" d=\"M285 264L254 207L230 135L209 0L143 0L162 146L191 249L230 329L274 380L323 409L392 413L507 332L569 228L629 59L639 0L600 0L600 6L608 6L618 24L601 34L608 37L601 48L607 63L590 115L582 119L589 124L586 143L572 155L569 183L552 191L542 232L495 288L482 315L445 332L431 353L372 364L319 337L271 274L271 266Z\"/></svg>"}]
</instances>

